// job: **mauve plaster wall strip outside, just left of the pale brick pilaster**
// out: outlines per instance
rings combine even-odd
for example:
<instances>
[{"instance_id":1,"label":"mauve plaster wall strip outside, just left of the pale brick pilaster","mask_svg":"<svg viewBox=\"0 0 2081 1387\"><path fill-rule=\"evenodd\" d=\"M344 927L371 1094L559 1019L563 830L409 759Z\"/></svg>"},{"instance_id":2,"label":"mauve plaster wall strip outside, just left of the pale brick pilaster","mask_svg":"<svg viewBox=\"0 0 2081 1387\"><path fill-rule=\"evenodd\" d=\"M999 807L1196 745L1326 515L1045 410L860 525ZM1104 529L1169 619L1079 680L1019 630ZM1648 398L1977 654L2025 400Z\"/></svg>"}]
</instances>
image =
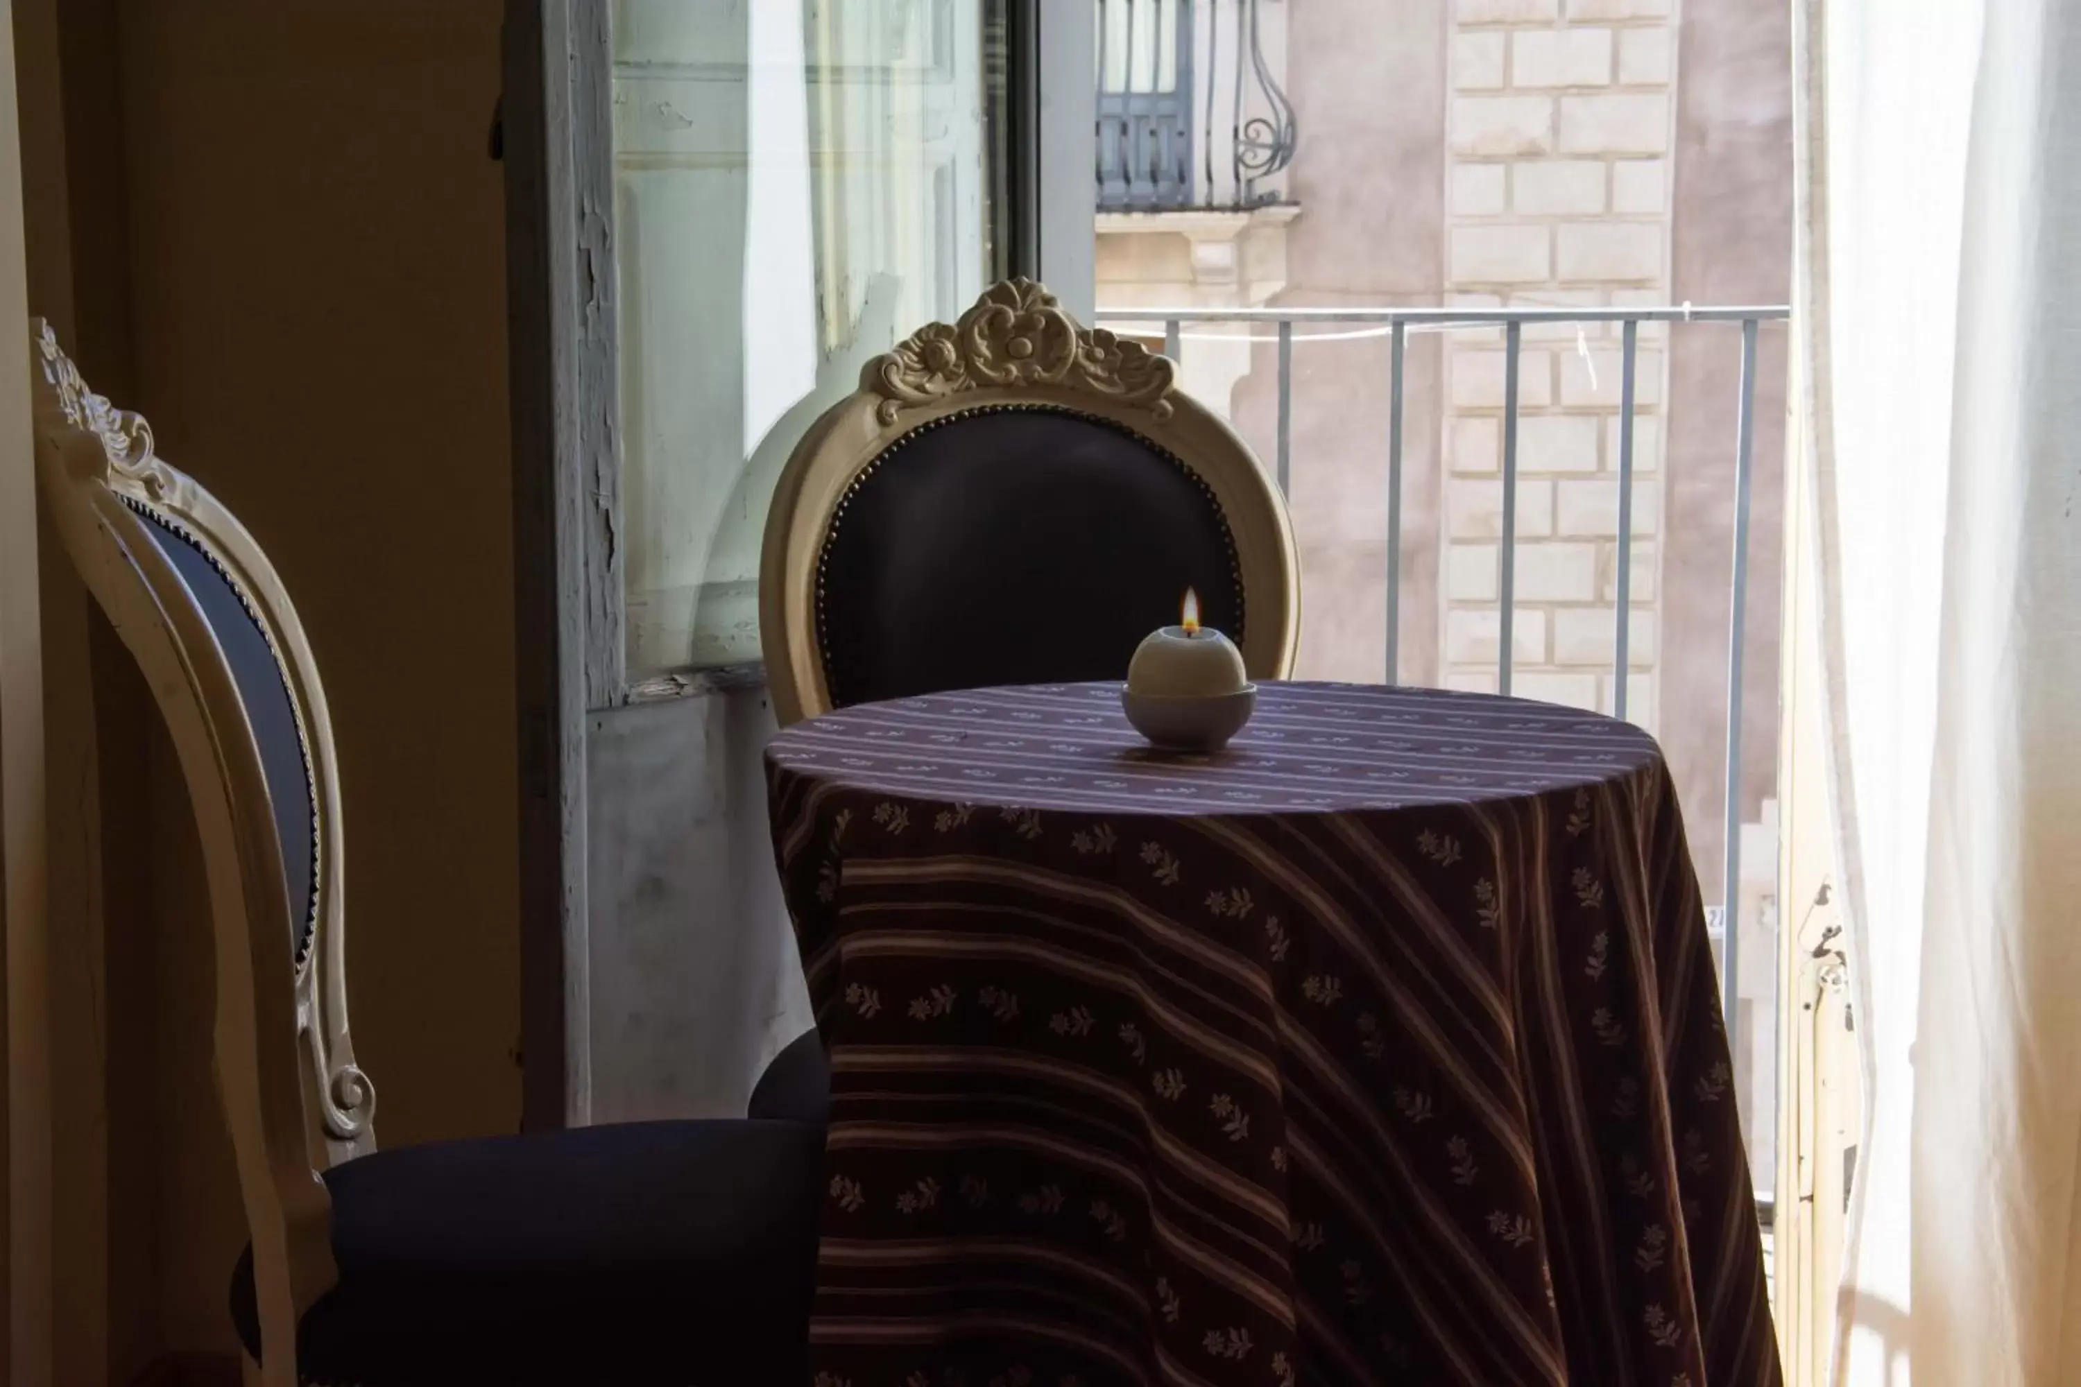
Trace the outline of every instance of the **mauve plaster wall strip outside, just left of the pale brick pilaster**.
<instances>
[{"instance_id":1,"label":"mauve plaster wall strip outside, just left of the pale brick pilaster","mask_svg":"<svg viewBox=\"0 0 2081 1387\"><path fill-rule=\"evenodd\" d=\"M1436 0L1309 0L1288 17L1301 141L1278 304L1436 304L1444 229L1444 15ZM1394 42L1382 42L1394 35ZM1438 351L1413 337L1403 453L1401 678L1436 682ZM1269 464L1278 349L1255 347L1234 418ZM1296 345L1292 522L1307 580L1303 678L1386 670L1388 339ZM1311 595L1321 595L1315 599Z\"/></svg>"}]
</instances>

